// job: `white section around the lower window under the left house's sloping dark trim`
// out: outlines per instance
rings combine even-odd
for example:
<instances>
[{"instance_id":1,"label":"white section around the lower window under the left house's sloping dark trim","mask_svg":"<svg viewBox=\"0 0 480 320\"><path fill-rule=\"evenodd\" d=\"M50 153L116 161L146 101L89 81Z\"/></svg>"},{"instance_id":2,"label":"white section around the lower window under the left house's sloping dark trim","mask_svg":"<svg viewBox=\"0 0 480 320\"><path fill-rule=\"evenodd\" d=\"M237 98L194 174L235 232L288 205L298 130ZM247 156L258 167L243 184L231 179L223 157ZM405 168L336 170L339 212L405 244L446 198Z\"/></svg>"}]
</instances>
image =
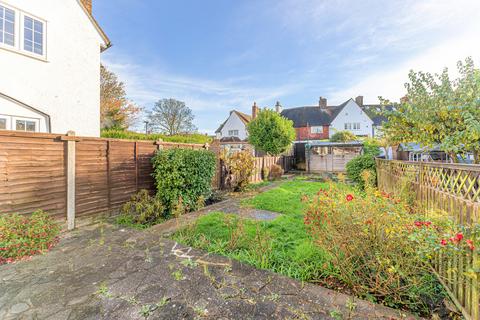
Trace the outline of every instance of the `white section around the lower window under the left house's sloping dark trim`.
<instances>
[{"instance_id":1,"label":"white section around the lower window under the left house's sloping dark trim","mask_svg":"<svg viewBox=\"0 0 480 320\"><path fill-rule=\"evenodd\" d=\"M0 119L7 121L7 130L15 130L16 120L35 122L36 132L48 132L48 118L0 96Z\"/></svg>"}]
</instances>

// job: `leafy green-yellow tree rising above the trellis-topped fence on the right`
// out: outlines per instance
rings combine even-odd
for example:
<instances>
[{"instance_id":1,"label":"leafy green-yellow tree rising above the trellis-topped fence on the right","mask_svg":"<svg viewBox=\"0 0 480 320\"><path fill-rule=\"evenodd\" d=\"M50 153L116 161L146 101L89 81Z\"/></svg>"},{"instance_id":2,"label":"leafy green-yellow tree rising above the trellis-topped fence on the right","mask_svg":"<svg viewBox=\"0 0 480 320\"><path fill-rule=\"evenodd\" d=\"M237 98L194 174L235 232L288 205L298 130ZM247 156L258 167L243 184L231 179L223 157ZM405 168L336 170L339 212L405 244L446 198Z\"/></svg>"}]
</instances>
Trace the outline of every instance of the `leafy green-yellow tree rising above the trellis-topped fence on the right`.
<instances>
[{"instance_id":1,"label":"leafy green-yellow tree rising above the trellis-topped fence on the right","mask_svg":"<svg viewBox=\"0 0 480 320\"><path fill-rule=\"evenodd\" d=\"M384 111L388 122L383 133L390 141L439 146L453 161L471 153L480 163L480 70L471 58L457 67L454 80L446 68L435 75L410 71L407 95L393 110Z\"/></svg>"}]
</instances>

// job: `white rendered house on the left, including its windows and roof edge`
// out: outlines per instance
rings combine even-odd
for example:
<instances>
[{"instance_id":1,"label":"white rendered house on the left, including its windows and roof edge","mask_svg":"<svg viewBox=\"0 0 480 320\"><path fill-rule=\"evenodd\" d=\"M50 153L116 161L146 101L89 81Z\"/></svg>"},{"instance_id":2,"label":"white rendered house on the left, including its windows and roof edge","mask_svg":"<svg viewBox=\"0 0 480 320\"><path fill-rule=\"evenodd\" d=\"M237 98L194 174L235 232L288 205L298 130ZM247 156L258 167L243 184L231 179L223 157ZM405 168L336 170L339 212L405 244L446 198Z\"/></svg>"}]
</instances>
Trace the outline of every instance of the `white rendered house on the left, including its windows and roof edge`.
<instances>
[{"instance_id":1,"label":"white rendered house on the left, including its windows and roof edge","mask_svg":"<svg viewBox=\"0 0 480 320\"><path fill-rule=\"evenodd\" d=\"M100 135L100 54L91 0L0 0L0 130Z\"/></svg>"}]
</instances>

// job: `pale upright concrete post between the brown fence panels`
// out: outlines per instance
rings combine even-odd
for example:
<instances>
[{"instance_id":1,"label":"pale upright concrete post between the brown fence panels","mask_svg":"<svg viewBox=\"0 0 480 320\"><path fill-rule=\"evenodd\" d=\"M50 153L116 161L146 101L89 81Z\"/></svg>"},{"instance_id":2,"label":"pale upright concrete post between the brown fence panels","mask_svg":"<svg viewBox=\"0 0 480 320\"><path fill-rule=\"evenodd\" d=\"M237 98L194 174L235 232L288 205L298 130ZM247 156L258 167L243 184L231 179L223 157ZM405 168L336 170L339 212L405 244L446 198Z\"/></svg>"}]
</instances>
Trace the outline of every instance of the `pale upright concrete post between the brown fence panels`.
<instances>
[{"instance_id":1,"label":"pale upright concrete post between the brown fence panels","mask_svg":"<svg viewBox=\"0 0 480 320\"><path fill-rule=\"evenodd\" d=\"M67 137L67 229L75 229L75 132Z\"/></svg>"}]
</instances>

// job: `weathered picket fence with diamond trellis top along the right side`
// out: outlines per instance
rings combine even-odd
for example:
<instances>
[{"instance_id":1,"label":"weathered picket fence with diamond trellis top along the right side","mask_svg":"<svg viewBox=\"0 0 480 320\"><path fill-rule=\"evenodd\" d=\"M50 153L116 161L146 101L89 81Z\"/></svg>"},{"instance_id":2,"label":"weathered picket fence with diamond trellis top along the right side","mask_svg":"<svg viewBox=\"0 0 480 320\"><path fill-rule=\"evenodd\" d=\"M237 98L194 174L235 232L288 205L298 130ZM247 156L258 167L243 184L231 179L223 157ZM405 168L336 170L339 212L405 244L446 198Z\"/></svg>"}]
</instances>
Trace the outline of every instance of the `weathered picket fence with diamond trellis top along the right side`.
<instances>
[{"instance_id":1,"label":"weathered picket fence with diamond trellis top along the right side","mask_svg":"<svg viewBox=\"0 0 480 320\"><path fill-rule=\"evenodd\" d=\"M398 194L411 188L416 201L439 211L460 228L480 223L480 166L419 163L377 159L378 187ZM428 213L427 213L428 214ZM480 257L473 254L447 256L441 252L432 261L436 273L467 319L480 320Z\"/></svg>"}]
</instances>

